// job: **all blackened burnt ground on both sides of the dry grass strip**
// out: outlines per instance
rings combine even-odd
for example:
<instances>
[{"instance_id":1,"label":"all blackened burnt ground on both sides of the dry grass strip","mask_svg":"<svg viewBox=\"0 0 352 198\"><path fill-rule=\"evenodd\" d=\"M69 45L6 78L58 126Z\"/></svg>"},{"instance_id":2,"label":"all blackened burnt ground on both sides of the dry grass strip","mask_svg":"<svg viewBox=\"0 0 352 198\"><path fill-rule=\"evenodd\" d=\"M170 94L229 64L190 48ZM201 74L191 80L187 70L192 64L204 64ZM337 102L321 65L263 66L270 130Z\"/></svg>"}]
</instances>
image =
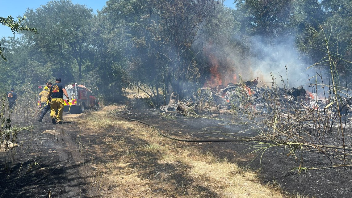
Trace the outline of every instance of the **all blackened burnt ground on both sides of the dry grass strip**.
<instances>
[{"instance_id":1,"label":"all blackened burnt ground on both sides of the dry grass strip","mask_svg":"<svg viewBox=\"0 0 352 198\"><path fill-rule=\"evenodd\" d=\"M180 138L227 138L223 135L226 133L237 136L256 135L255 131L245 130L250 126L229 125L229 119L231 119L229 116L222 116L221 120L217 120L185 117L174 113L170 119L159 113L146 112L148 111L134 110L124 113L124 116L143 120L165 134ZM33 121L32 130L20 131L17 139L19 146L7 155L1 151L0 197L109 197L100 191L102 186L99 184L102 184L102 181L99 180L99 176L102 173L96 164L115 157L114 154L104 151L106 144L104 138L109 136L112 130L119 131L119 129L106 129L99 133L90 131L84 124L77 122L86 114L89 112L81 115L64 115L70 123L63 125L52 125L48 118L43 123ZM16 122L15 118L13 124L27 125L22 121ZM140 140L128 141L133 145ZM296 158L286 157L287 151L275 147L266 150L262 157L255 157L256 154L249 154L252 150L248 148L256 143L187 144L204 152L210 151L219 157L226 157L229 162L237 163L239 166L260 170L260 179L264 184L278 184L283 191L292 194L299 193L321 198L351 197L351 167L325 168L330 166L330 161L320 153L297 151ZM301 159L303 159L303 166L318 169L298 174L294 168L300 165ZM95 165L92 162L95 162ZM132 163L131 166L137 165ZM179 177L182 178L182 173ZM108 192L114 185L109 184L104 187ZM209 189L201 190L209 192L204 197L218 197ZM123 196L118 197L132 197L124 192L121 193ZM139 197L147 196L142 194ZM169 194L167 197L182 196Z\"/></svg>"}]
</instances>

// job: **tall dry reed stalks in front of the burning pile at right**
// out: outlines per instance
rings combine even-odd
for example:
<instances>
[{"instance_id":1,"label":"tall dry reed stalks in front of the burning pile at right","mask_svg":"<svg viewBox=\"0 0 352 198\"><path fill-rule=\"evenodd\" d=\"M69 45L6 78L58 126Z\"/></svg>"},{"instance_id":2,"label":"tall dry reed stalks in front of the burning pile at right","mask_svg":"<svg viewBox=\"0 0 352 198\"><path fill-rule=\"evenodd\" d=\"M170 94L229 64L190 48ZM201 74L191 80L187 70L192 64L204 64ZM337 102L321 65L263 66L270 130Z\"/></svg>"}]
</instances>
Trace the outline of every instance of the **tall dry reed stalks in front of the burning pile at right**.
<instances>
[{"instance_id":1,"label":"tall dry reed stalks in front of the burning pile at right","mask_svg":"<svg viewBox=\"0 0 352 198\"><path fill-rule=\"evenodd\" d=\"M340 82L340 74L338 73L338 63L344 60L338 53L338 44L342 39L334 37L333 31L325 31L320 26L320 31L316 31L320 35L322 41L322 49L325 56L317 63L309 68L324 67L328 70L327 73L320 72L309 80L315 78L315 81L310 83L309 87L315 89L316 95L320 95L320 101L325 101L326 105L323 109L315 108L307 105L307 97L292 97L289 93L289 85L280 76L283 82L283 88L279 88L276 84L276 78L272 75L271 87L262 95L265 101L265 106L268 108L268 115L256 116L253 123L259 132L258 137L265 138L267 142L258 142L252 146L253 152L257 152L257 156L263 157L266 150L273 147L283 147L284 154L294 156L297 162L300 162L298 172L308 170L310 168L303 167L303 153L322 153L330 163L329 167L352 166L352 146L346 145L346 124L347 124L347 107L352 100L348 95L351 89L347 86L342 86ZM287 69L287 66L286 66ZM324 83L324 75L328 74L329 82ZM286 78L289 78L287 74ZM326 87L328 89L326 89ZM319 93L319 91L323 93ZM350 97L350 98L348 98ZM318 98L315 98L318 104ZM352 105L351 105L352 106ZM245 111L243 111L246 113ZM330 145L326 145L330 144ZM342 150L342 151L341 151ZM299 159L298 154L301 155ZM306 153L307 154L307 153ZM319 167L314 167L314 169ZM323 167L326 168L326 167Z\"/></svg>"}]
</instances>

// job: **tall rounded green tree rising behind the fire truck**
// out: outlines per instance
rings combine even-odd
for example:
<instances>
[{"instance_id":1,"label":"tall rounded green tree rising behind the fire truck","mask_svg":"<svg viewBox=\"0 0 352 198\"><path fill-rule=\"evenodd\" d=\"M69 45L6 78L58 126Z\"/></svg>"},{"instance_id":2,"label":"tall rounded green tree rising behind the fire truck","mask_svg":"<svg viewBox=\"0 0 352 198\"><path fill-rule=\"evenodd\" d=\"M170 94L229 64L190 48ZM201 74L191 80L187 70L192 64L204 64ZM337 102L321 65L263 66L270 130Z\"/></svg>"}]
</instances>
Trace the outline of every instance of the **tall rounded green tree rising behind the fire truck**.
<instances>
[{"instance_id":1,"label":"tall rounded green tree rising behind the fire truck","mask_svg":"<svg viewBox=\"0 0 352 198\"><path fill-rule=\"evenodd\" d=\"M35 26L39 33L35 37L25 34L33 48L54 63L56 75L67 76L68 81L81 80L92 10L72 1L54 0L25 14L26 24Z\"/></svg>"}]
</instances>

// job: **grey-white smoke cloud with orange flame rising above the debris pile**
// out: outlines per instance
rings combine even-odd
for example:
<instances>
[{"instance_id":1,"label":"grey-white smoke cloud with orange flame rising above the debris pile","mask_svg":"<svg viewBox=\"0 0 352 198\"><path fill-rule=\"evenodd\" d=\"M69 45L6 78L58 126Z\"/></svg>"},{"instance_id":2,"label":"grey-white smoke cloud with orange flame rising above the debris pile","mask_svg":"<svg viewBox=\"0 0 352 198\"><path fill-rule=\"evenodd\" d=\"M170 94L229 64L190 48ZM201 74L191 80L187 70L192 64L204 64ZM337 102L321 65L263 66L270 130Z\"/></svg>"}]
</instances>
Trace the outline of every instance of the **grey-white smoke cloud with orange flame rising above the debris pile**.
<instances>
[{"instance_id":1,"label":"grey-white smoke cloud with orange flame rising above the debris pile","mask_svg":"<svg viewBox=\"0 0 352 198\"><path fill-rule=\"evenodd\" d=\"M258 86L271 86L275 78L279 87L283 87L282 80L289 87L298 87L309 84L308 75L315 75L313 70L306 70L313 62L298 52L294 38L278 38L270 44L262 36L232 38L230 42L198 42L206 43L203 56L211 65L207 78L210 85L236 83L241 75L244 81L258 76Z\"/></svg>"}]
</instances>

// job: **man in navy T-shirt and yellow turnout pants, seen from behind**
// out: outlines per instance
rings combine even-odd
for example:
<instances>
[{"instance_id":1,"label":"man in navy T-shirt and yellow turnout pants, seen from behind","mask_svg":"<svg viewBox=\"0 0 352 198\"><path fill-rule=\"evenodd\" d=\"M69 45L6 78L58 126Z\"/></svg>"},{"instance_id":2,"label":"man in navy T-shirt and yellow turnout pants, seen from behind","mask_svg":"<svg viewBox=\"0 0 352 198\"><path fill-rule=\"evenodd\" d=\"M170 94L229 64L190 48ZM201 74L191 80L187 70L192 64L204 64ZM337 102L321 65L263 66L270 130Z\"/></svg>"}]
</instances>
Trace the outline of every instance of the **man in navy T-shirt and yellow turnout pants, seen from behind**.
<instances>
[{"instance_id":1,"label":"man in navy T-shirt and yellow turnout pants, seen from behind","mask_svg":"<svg viewBox=\"0 0 352 198\"><path fill-rule=\"evenodd\" d=\"M62 113L64 111L64 95L69 101L65 85L61 83L61 78L56 78L56 83L51 86L48 99L51 100L50 117L53 124L62 124ZM57 112L57 113L56 113Z\"/></svg>"}]
</instances>

